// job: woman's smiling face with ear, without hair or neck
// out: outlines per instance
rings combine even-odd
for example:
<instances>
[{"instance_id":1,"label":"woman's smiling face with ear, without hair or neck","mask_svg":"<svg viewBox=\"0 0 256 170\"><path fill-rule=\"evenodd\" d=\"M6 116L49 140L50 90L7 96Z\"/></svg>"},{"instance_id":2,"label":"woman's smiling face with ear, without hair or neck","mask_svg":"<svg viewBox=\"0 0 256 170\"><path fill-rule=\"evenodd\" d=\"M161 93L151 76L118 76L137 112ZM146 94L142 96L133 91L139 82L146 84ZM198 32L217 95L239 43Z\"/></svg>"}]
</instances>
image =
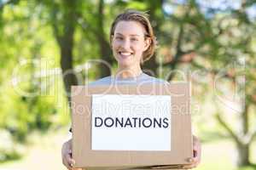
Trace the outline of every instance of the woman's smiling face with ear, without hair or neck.
<instances>
[{"instance_id":1,"label":"woman's smiling face with ear, without hair or neck","mask_svg":"<svg viewBox=\"0 0 256 170\"><path fill-rule=\"evenodd\" d=\"M121 68L140 65L143 52L149 46L145 29L137 21L119 21L112 37L113 56Z\"/></svg>"}]
</instances>

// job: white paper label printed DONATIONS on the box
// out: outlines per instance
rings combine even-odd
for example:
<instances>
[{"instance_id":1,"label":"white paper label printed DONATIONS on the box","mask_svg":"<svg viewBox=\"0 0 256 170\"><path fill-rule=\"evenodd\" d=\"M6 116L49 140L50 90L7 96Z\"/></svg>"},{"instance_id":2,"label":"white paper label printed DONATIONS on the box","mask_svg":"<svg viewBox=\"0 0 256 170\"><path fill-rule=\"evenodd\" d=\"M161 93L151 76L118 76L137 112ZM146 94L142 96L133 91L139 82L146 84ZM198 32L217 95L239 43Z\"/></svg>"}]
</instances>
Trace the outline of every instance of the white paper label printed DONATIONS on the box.
<instances>
[{"instance_id":1,"label":"white paper label printed DONATIONS on the box","mask_svg":"<svg viewBox=\"0 0 256 170\"><path fill-rule=\"evenodd\" d=\"M171 96L93 94L91 150L171 150Z\"/></svg>"}]
</instances>

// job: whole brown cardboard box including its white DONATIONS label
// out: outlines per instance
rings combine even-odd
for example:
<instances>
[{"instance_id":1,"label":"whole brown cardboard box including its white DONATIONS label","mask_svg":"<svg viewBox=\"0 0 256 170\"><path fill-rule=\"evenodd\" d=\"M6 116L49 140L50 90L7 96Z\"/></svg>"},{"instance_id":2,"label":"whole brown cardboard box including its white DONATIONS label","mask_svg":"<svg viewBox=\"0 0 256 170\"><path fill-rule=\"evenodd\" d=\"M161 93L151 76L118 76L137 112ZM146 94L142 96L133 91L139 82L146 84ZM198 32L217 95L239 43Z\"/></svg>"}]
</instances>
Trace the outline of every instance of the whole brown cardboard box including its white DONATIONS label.
<instances>
[{"instance_id":1,"label":"whole brown cardboard box including its white DONATIONS label","mask_svg":"<svg viewBox=\"0 0 256 170\"><path fill-rule=\"evenodd\" d=\"M73 86L72 127L75 167L168 169L189 164L189 84Z\"/></svg>"}]
</instances>

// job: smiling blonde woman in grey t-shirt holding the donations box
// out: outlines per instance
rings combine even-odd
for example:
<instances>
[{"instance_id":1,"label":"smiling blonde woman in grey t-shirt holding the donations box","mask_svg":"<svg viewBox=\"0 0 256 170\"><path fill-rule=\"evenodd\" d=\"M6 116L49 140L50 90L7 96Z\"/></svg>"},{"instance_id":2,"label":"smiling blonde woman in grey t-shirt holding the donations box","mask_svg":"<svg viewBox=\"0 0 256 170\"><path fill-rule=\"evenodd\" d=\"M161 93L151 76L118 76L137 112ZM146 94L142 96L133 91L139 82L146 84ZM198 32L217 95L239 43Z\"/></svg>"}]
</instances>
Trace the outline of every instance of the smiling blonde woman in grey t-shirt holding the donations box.
<instances>
[{"instance_id":1,"label":"smiling blonde woman in grey t-shirt holding the donations box","mask_svg":"<svg viewBox=\"0 0 256 170\"><path fill-rule=\"evenodd\" d=\"M156 45L154 31L148 16L142 12L128 10L113 21L110 31L113 56L118 62L118 71L112 77L104 77L90 85L168 83L143 73L141 64L154 54ZM196 167L201 160L201 144L193 137L194 158L184 168ZM71 155L71 139L62 145L62 162L72 169L75 163Z\"/></svg>"}]
</instances>

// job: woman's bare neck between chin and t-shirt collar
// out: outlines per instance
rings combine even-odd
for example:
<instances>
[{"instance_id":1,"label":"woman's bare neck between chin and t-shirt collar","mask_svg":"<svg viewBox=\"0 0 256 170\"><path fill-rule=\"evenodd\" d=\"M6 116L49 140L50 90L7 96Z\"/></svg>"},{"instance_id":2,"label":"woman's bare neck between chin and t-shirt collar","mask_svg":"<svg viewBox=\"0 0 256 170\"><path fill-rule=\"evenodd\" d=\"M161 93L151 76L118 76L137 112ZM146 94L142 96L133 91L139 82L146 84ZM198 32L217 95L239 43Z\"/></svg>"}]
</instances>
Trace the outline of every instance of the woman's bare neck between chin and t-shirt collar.
<instances>
[{"instance_id":1,"label":"woman's bare neck between chin and t-shirt collar","mask_svg":"<svg viewBox=\"0 0 256 170\"><path fill-rule=\"evenodd\" d=\"M132 68L124 68L119 66L115 76L119 78L131 78L131 77L137 77L142 73L143 71L140 65L134 66Z\"/></svg>"}]
</instances>

